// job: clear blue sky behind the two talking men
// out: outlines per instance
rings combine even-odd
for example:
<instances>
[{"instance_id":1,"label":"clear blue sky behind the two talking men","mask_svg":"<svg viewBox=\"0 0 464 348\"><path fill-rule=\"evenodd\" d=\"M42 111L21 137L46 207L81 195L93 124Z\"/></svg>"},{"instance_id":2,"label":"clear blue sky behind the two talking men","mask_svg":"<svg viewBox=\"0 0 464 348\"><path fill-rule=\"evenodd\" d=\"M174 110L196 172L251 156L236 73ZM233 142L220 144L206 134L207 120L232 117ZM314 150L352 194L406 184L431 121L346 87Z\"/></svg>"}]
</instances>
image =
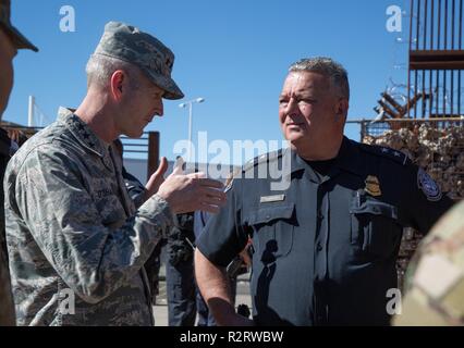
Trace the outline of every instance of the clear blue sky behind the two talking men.
<instances>
[{"instance_id":1,"label":"clear blue sky behind the two talking men","mask_svg":"<svg viewBox=\"0 0 464 348\"><path fill-rule=\"evenodd\" d=\"M406 80L407 18L403 33L389 33L386 10L406 0L13 0L12 21L39 53L20 51L15 86L3 120L27 123L27 96L34 95L46 124L59 105L76 107L85 96L85 64L109 21L148 32L175 53L173 77L194 105L194 135L208 140L282 138L278 96L288 66L304 57L329 55L350 75L349 119L371 119L379 94ZM60 8L75 9L75 32L60 30ZM390 84L391 86L391 84ZM187 109L166 101L164 116L146 130L161 133L161 156L172 159L176 140L187 138ZM357 126L346 135L358 140ZM196 137L194 136L194 142ZM246 159L245 159L246 160ZM235 163L239 164L239 163Z\"/></svg>"}]
</instances>

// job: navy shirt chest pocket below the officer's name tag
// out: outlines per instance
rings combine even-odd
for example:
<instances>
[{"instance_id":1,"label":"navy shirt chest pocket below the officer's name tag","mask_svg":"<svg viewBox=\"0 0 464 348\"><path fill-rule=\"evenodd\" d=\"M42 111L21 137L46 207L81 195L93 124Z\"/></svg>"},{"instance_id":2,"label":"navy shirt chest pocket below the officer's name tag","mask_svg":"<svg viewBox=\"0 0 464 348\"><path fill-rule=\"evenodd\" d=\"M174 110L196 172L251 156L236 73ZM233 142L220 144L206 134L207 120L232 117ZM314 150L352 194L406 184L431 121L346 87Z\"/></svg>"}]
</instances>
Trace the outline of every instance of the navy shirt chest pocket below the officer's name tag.
<instances>
[{"instance_id":1,"label":"navy shirt chest pocket below the officer's name tag","mask_svg":"<svg viewBox=\"0 0 464 348\"><path fill-rule=\"evenodd\" d=\"M264 262L286 256L292 250L295 204L260 207L248 219L253 227L253 246Z\"/></svg>"}]
</instances>

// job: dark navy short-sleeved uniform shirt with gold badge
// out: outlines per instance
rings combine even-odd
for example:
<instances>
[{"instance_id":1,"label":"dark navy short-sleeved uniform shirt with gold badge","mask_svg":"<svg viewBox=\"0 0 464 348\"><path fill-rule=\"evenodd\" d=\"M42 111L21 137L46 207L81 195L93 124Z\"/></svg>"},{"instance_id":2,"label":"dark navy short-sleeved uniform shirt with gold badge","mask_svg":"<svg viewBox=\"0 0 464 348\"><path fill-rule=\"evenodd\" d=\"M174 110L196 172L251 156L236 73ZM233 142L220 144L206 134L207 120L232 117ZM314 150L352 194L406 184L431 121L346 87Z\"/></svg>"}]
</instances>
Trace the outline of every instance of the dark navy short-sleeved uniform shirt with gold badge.
<instances>
[{"instance_id":1,"label":"dark navy short-sleeved uniform shirt with gold badge","mask_svg":"<svg viewBox=\"0 0 464 348\"><path fill-rule=\"evenodd\" d=\"M290 187L276 191L271 177L258 178L285 152L245 165L197 247L225 266L253 238L258 325L388 325L402 227L427 233L452 200L392 149L344 138L322 174L283 151L291 156Z\"/></svg>"}]
</instances>

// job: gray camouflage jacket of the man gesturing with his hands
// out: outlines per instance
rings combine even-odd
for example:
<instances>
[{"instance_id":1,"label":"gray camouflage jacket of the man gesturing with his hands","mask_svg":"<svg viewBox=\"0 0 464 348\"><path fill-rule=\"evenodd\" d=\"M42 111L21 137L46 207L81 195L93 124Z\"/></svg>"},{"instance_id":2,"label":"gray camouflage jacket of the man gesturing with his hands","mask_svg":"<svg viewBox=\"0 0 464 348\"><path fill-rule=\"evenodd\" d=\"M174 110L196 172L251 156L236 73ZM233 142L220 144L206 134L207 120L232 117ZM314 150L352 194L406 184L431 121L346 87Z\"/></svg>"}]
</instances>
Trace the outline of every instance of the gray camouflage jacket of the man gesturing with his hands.
<instances>
[{"instance_id":1,"label":"gray camouflage jacket of the man gesturing with his hands","mask_svg":"<svg viewBox=\"0 0 464 348\"><path fill-rule=\"evenodd\" d=\"M121 167L72 113L10 161L7 241L19 325L154 324L143 265L173 217L156 195L135 210Z\"/></svg>"}]
</instances>

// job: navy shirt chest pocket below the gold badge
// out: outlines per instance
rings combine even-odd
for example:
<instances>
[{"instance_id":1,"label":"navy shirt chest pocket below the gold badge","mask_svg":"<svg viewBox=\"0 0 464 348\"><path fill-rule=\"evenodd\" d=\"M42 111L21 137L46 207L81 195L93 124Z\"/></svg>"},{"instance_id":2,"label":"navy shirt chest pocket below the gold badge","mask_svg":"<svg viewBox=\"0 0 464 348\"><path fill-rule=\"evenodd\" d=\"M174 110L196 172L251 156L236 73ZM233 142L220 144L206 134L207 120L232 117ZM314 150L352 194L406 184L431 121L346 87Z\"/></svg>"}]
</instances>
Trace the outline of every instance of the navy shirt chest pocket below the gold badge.
<instances>
[{"instance_id":1,"label":"navy shirt chest pocket below the gold badge","mask_svg":"<svg viewBox=\"0 0 464 348\"><path fill-rule=\"evenodd\" d=\"M354 197L350 214L352 245L374 258L395 252L402 235L396 207L369 196Z\"/></svg>"}]
</instances>

